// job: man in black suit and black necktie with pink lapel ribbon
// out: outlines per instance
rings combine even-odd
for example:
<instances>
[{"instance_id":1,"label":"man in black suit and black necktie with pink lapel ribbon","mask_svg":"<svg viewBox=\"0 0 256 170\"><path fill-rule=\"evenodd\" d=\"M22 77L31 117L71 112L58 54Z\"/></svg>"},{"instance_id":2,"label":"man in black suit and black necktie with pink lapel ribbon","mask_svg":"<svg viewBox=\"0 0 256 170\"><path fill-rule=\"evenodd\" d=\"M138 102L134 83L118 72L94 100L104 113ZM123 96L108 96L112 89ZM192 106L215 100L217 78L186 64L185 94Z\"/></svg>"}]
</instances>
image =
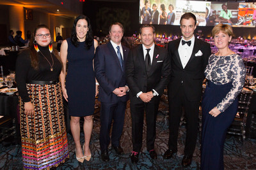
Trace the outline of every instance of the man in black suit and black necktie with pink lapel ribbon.
<instances>
[{"instance_id":1,"label":"man in black suit and black necktie with pink lapel ribbon","mask_svg":"<svg viewBox=\"0 0 256 170\"><path fill-rule=\"evenodd\" d=\"M135 163L138 162L142 145L144 110L147 120L147 150L152 159L157 159L154 150L156 114L160 97L170 78L168 52L154 44L154 34L153 25L141 26L142 45L131 50L126 64L132 117L131 161Z\"/></svg>"}]
</instances>

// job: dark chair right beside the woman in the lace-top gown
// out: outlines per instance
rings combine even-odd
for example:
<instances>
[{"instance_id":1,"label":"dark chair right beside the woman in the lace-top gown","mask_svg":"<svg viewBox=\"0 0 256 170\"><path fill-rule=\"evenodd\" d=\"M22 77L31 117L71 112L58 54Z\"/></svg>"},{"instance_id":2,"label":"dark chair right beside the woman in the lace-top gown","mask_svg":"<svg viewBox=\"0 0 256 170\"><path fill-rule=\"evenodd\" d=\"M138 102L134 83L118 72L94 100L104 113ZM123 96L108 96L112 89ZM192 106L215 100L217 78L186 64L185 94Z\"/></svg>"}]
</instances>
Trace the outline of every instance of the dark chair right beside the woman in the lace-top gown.
<instances>
[{"instance_id":1,"label":"dark chair right beside the woman in the lace-top gown","mask_svg":"<svg viewBox=\"0 0 256 170\"><path fill-rule=\"evenodd\" d=\"M228 128L228 134L234 134L241 136L242 145L244 147L245 139L245 127L246 127L246 118L250 106L250 101L252 99L253 91L243 90L238 96L238 108L237 115L234 118L234 121Z\"/></svg>"}]
</instances>

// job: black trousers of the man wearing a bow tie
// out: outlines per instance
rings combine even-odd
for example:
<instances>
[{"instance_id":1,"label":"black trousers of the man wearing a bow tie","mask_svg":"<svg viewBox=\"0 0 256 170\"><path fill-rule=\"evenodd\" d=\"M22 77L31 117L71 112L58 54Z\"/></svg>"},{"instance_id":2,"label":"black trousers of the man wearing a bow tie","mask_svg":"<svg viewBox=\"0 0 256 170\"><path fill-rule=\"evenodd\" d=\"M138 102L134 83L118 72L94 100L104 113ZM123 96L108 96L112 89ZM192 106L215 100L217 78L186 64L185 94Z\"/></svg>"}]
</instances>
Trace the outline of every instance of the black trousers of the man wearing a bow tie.
<instances>
[{"instance_id":1,"label":"black trousers of the man wearing a bow tie","mask_svg":"<svg viewBox=\"0 0 256 170\"><path fill-rule=\"evenodd\" d=\"M184 148L185 155L193 155L196 146L198 133L198 113L200 101L189 101L184 92L184 86L181 85L176 95L171 97L168 94L169 101L169 141L168 147L174 152L177 151L177 138L179 134L180 117L182 116L182 107L184 108L184 117L186 118L186 143Z\"/></svg>"}]
</instances>

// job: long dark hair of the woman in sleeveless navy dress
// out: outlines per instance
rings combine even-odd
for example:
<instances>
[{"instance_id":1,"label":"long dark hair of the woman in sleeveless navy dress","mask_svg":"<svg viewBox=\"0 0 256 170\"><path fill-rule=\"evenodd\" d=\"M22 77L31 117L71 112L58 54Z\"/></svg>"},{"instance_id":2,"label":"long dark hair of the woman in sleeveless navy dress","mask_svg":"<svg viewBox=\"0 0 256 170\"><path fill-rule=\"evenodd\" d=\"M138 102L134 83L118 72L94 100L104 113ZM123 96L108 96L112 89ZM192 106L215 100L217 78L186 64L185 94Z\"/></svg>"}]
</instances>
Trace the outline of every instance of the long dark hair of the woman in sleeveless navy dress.
<instances>
[{"instance_id":1,"label":"long dark hair of the woman in sleeveless navy dress","mask_svg":"<svg viewBox=\"0 0 256 170\"><path fill-rule=\"evenodd\" d=\"M74 46L78 46L78 39L77 39L77 34L76 34L76 24L78 20L84 19L88 23L88 32L86 33L86 38L85 38L85 47L87 50L90 49L90 47L93 44L93 35L92 35L92 26L90 23L90 19L84 15L79 15L76 17L74 21L74 25L72 27L72 34L71 34L71 42Z\"/></svg>"}]
</instances>

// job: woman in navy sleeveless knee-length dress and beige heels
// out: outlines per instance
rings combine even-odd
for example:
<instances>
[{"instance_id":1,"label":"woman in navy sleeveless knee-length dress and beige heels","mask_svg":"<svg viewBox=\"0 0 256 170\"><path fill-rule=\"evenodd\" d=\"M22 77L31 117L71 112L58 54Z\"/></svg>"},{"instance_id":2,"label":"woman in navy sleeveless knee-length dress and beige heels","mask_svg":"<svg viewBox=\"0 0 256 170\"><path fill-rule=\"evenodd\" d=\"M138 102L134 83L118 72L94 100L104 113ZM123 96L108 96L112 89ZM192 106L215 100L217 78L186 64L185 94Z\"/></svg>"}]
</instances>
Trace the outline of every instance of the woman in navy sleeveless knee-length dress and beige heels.
<instances>
[{"instance_id":1,"label":"woman in navy sleeveless knee-length dress and beige heels","mask_svg":"<svg viewBox=\"0 0 256 170\"><path fill-rule=\"evenodd\" d=\"M79 15L74 21L71 38L63 41L60 50L63 62L63 70L60 74L61 89L63 97L68 101L68 113L71 117L70 129L76 144L76 159L79 162L83 162L84 159L89 161L92 156L89 143L97 95L93 71L93 57L97 45L98 42L92 36L89 18ZM68 71L67 78L65 78L67 60ZM83 150L80 143L80 117L84 118Z\"/></svg>"}]
</instances>

